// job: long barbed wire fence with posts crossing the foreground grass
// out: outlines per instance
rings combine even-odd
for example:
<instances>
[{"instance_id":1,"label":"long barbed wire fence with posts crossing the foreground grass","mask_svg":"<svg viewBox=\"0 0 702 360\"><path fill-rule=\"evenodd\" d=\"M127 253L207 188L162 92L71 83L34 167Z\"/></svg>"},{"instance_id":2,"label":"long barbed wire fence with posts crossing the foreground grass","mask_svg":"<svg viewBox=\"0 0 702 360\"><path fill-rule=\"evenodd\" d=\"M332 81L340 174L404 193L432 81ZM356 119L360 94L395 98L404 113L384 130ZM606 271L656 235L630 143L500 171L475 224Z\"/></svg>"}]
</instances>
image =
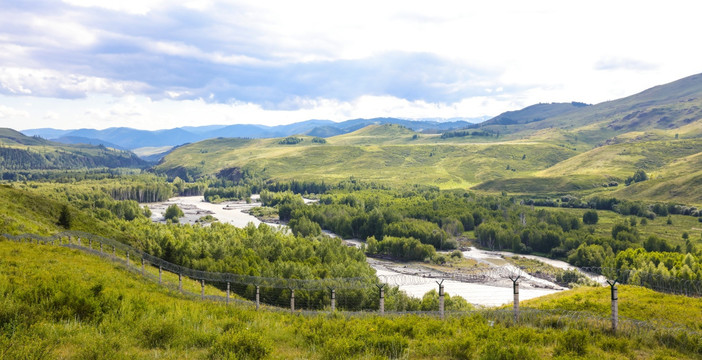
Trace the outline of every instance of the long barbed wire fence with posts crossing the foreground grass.
<instances>
[{"instance_id":1,"label":"long barbed wire fence with posts crossing the foreground grass","mask_svg":"<svg viewBox=\"0 0 702 360\"><path fill-rule=\"evenodd\" d=\"M607 318L590 312L519 307L520 281L552 279L562 275L564 271L562 269L548 271L501 266L476 268L463 273L433 272L421 276L412 274L379 275L377 283L369 283L368 279L363 278L283 279L190 269L165 261L119 241L86 232L69 231L46 237L35 234L0 235L0 239L3 237L15 242L56 245L101 256L122 264L129 271L140 274L188 298L226 304L236 303L256 310L265 308L269 311L289 311L300 314L343 312L353 316L370 314L393 316L415 313L438 316L441 319L479 314L486 319L491 319L492 323L508 325L523 323L554 328L597 326L630 335L655 332L660 335L659 337L671 342L681 341L680 337L683 335L702 337L702 334L697 330L684 325L660 320L639 321L619 316L617 284L638 285L660 292L686 296L699 297L702 295L702 282L699 280L676 279L636 270L572 269L588 275L590 279L595 279L595 282L601 285L608 284L610 286L612 312L611 316ZM472 283L488 280L510 281L514 294L513 309L482 308L471 311L446 311L444 308L445 280ZM422 285L428 281L435 281L437 284L438 309L432 311L385 311L385 292L390 286Z\"/></svg>"}]
</instances>

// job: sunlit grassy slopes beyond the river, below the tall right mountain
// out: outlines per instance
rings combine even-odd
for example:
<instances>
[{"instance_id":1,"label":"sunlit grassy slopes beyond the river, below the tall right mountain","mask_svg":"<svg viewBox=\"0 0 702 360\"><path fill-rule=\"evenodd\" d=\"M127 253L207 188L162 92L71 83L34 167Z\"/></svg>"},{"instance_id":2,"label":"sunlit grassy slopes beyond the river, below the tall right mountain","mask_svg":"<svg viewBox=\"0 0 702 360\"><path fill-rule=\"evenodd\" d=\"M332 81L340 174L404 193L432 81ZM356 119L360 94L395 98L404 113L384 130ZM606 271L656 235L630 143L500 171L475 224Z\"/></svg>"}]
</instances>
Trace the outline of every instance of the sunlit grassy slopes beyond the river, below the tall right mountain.
<instances>
[{"instance_id":1,"label":"sunlit grassy slopes beyond the river, below the tall right mountain","mask_svg":"<svg viewBox=\"0 0 702 360\"><path fill-rule=\"evenodd\" d=\"M212 139L175 149L155 167L171 176L199 177L249 168L276 180L357 177L391 186L424 184L442 189L527 195L604 193L622 198L702 203L702 140L695 121L680 129L616 132L589 124L577 134L560 128L505 137L442 139L398 125L372 125L327 138L326 144L283 145L279 139ZM678 130L686 131L675 138ZM588 131L613 136L593 147ZM675 132L675 134L674 134ZM625 188L643 169L651 181ZM619 187L603 184L619 182Z\"/></svg>"}]
</instances>

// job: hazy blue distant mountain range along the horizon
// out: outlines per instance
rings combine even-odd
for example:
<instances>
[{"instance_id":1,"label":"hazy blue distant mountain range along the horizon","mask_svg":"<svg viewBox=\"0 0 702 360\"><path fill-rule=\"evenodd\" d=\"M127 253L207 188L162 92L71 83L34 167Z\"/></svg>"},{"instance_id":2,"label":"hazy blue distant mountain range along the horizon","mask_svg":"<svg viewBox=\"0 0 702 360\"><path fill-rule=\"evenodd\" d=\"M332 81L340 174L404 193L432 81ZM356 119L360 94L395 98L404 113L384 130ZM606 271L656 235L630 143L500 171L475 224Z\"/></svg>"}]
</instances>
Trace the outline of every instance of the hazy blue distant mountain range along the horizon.
<instances>
[{"instance_id":1,"label":"hazy blue distant mountain range along the horizon","mask_svg":"<svg viewBox=\"0 0 702 360\"><path fill-rule=\"evenodd\" d=\"M471 119L474 121L483 118ZM289 125L265 126L254 124L188 126L168 130L137 130L132 128L109 128L104 130L77 129L58 130L52 128L22 131L27 136L40 136L65 144L104 145L115 149L140 149L145 147L178 146L218 137L276 138L291 135L330 137L346 134L373 124L399 124L414 131L443 132L465 128L473 122L465 120L439 121L406 120L398 118L353 119L342 122L330 120L307 120Z\"/></svg>"}]
</instances>

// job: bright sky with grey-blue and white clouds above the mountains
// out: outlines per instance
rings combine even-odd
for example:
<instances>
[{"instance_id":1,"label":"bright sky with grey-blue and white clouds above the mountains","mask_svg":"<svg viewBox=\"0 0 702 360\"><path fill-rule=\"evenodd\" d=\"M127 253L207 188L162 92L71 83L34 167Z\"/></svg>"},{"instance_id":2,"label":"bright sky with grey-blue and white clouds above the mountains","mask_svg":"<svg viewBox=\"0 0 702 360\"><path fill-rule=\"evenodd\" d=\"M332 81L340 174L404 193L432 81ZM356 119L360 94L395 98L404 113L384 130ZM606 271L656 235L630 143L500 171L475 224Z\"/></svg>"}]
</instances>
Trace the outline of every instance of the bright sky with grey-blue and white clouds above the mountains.
<instances>
[{"instance_id":1,"label":"bright sky with grey-blue and white clouds above the mountains","mask_svg":"<svg viewBox=\"0 0 702 360\"><path fill-rule=\"evenodd\" d=\"M0 1L0 127L485 118L702 72L699 1Z\"/></svg>"}]
</instances>

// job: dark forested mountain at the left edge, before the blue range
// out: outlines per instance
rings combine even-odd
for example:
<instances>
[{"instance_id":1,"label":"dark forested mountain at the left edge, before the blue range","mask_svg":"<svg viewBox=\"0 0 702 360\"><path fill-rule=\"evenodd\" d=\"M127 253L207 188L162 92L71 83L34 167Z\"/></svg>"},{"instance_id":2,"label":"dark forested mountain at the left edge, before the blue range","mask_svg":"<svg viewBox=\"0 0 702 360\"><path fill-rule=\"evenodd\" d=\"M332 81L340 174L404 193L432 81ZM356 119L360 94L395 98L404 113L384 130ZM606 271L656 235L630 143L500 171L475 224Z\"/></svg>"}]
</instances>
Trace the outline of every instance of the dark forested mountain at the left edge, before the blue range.
<instances>
[{"instance_id":1,"label":"dark forested mountain at the left edge, before the blue range","mask_svg":"<svg viewBox=\"0 0 702 360\"><path fill-rule=\"evenodd\" d=\"M3 178L13 171L83 168L144 168L148 163L128 151L87 144L61 144L0 128L0 171Z\"/></svg>"}]
</instances>

